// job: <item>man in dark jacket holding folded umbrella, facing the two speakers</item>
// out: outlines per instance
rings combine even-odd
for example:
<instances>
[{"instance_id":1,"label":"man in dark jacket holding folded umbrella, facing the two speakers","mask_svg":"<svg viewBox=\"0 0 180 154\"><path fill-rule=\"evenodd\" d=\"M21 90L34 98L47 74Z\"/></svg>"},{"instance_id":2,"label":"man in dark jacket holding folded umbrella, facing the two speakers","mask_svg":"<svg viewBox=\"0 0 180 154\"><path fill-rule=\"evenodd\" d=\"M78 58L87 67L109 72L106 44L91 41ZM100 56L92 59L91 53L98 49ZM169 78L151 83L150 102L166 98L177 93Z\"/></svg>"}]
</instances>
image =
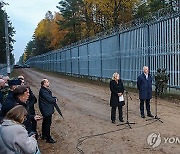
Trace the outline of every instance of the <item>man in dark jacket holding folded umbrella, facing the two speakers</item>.
<instances>
[{"instance_id":1,"label":"man in dark jacket holding folded umbrella, facing the two speakers","mask_svg":"<svg viewBox=\"0 0 180 154\"><path fill-rule=\"evenodd\" d=\"M42 122L42 139L46 139L48 143L55 143L56 141L50 135L50 127L52 123L52 114L54 113L54 104L57 98L52 96L49 90L49 81L43 79L41 81L41 88L39 91L39 109L43 116Z\"/></svg>"}]
</instances>

